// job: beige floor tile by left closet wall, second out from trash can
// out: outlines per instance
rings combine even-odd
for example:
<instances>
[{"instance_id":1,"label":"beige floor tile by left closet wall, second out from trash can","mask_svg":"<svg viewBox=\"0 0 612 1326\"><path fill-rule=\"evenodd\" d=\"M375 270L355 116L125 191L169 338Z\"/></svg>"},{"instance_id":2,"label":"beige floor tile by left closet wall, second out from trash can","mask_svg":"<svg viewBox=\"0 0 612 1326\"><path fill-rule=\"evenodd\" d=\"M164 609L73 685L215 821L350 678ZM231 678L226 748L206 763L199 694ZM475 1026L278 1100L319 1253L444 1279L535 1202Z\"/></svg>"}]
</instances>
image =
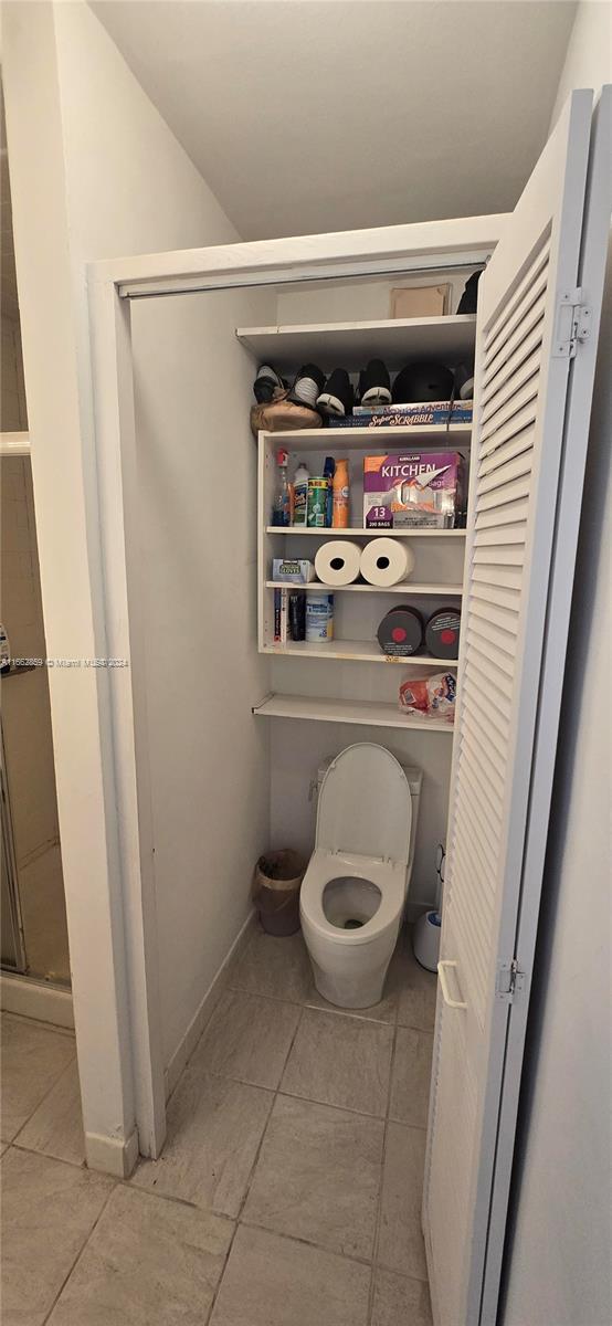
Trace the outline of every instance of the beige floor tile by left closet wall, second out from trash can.
<instances>
[{"instance_id":1,"label":"beige floor tile by left closet wall, second out from trash can","mask_svg":"<svg viewBox=\"0 0 612 1326\"><path fill-rule=\"evenodd\" d=\"M192 1062L209 1073L274 1090L299 1014L295 1004L225 991Z\"/></svg>"}]
</instances>

